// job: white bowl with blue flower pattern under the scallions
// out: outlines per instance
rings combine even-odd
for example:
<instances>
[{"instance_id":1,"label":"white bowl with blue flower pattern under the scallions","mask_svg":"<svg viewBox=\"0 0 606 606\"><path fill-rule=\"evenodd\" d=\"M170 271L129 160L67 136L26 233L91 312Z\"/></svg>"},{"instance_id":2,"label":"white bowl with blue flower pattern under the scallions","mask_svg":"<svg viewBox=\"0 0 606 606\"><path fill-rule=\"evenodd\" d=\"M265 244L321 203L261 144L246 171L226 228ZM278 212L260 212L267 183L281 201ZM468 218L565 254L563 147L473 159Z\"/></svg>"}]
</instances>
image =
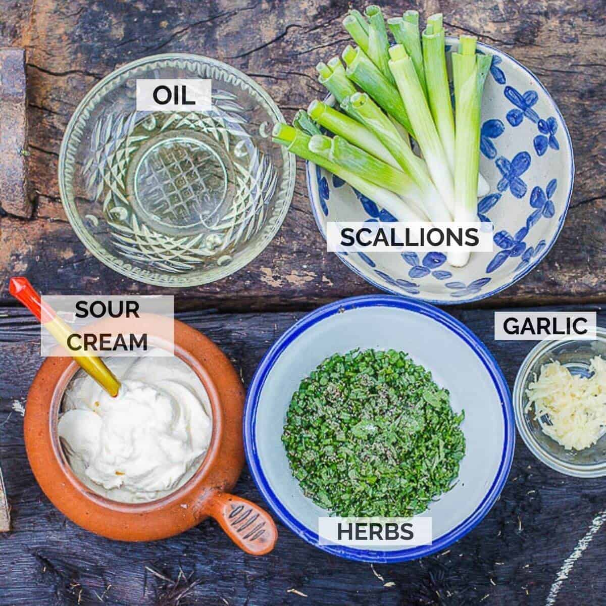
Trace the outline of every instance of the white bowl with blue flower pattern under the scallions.
<instances>
[{"instance_id":1,"label":"white bowl with blue flower pattern under the scallions","mask_svg":"<svg viewBox=\"0 0 606 606\"><path fill-rule=\"evenodd\" d=\"M448 47L456 48L456 38ZM573 188L568 129L555 102L524 65L496 48L482 97L480 170L490 193L478 215L494 225L492 253L451 267L442 253L336 253L382 290L444 305L478 301L511 286L547 255L564 225ZM450 56L450 53L448 53ZM311 208L322 235L328 221L393 221L348 184L307 162Z\"/></svg>"}]
</instances>

